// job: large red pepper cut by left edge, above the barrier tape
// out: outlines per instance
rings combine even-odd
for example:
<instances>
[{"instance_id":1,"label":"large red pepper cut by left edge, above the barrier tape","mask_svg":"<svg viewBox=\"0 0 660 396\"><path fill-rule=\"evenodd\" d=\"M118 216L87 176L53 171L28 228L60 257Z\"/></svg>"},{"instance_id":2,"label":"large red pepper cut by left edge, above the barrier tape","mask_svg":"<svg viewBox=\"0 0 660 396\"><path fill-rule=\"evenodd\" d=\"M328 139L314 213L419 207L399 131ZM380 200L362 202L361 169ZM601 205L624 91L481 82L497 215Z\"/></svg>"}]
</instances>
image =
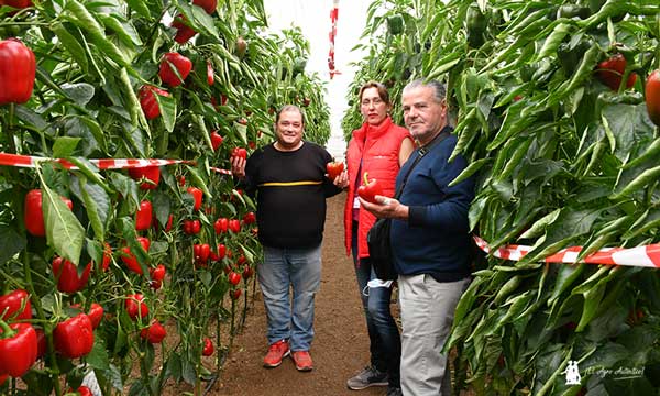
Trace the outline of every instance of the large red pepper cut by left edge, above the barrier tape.
<instances>
[{"instance_id":1,"label":"large red pepper cut by left edge, above the barrier tape","mask_svg":"<svg viewBox=\"0 0 660 396\"><path fill-rule=\"evenodd\" d=\"M36 62L32 50L18 38L0 41L0 106L30 100L35 74Z\"/></svg>"}]
</instances>

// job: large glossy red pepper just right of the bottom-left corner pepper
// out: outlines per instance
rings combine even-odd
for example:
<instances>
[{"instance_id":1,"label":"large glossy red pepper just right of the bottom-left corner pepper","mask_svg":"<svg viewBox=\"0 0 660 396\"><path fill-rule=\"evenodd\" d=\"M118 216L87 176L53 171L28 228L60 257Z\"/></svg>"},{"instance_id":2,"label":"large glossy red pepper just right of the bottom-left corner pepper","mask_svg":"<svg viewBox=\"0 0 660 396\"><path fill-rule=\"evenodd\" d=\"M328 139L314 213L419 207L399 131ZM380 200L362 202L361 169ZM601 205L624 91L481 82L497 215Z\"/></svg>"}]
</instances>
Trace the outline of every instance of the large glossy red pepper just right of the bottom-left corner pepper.
<instances>
[{"instance_id":1,"label":"large glossy red pepper just right of the bottom-left corner pepper","mask_svg":"<svg viewBox=\"0 0 660 396\"><path fill-rule=\"evenodd\" d=\"M78 314L59 322L53 331L55 350L64 358L82 358L94 346L94 328L87 314Z\"/></svg>"}]
</instances>

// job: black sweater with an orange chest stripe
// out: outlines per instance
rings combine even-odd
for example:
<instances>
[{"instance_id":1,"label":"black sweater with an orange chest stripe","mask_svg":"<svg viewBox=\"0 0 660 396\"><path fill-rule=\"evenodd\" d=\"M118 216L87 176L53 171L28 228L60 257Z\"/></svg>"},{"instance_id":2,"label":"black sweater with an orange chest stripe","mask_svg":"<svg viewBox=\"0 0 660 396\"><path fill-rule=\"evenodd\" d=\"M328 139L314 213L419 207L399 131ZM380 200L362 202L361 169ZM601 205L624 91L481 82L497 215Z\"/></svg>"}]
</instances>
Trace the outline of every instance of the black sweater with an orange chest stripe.
<instances>
[{"instance_id":1,"label":"black sweater with an orange chest stripe","mask_svg":"<svg viewBox=\"0 0 660 396\"><path fill-rule=\"evenodd\" d=\"M305 142L293 152L273 144L255 151L245 166L245 191L256 195L258 239L273 248L312 248L321 243L326 198L341 193L324 177L332 156Z\"/></svg>"}]
</instances>

